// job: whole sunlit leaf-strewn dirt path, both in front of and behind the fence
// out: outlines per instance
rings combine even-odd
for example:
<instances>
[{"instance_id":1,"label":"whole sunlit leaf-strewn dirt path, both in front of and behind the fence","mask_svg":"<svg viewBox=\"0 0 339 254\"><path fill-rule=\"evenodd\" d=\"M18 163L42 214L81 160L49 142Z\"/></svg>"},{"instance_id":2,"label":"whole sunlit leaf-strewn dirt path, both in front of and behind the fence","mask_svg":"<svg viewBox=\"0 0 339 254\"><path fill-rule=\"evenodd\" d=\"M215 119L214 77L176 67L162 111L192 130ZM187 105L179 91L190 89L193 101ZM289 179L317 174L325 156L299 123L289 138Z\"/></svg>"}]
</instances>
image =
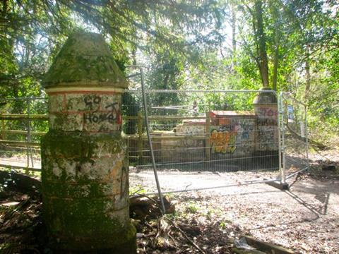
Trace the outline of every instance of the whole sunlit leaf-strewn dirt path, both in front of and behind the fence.
<instances>
[{"instance_id":1,"label":"whole sunlit leaf-strewn dirt path, both in front of and behind the fence","mask_svg":"<svg viewBox=\"0 0 339 254\"><path fill-rule=\"evenodd\" d=\"M337 170L323 171L326 164L335 164ZM243 234L295 253L339 253L338 166L338 157L314 156L307 174L288 180L289 191L264 183L241 184L249 179L274 178L278 172L160 171L159 178L165 191L236 183L229 188L174 195L178 218L208 228L203 231L204 237L196 238L207 253L229 253L229 248L223 250L220 246ZM132 183L155 186L151 171L132 172L131 176ZM133 182L133 176L137 181Z\"/></svg>"}]
</instances>

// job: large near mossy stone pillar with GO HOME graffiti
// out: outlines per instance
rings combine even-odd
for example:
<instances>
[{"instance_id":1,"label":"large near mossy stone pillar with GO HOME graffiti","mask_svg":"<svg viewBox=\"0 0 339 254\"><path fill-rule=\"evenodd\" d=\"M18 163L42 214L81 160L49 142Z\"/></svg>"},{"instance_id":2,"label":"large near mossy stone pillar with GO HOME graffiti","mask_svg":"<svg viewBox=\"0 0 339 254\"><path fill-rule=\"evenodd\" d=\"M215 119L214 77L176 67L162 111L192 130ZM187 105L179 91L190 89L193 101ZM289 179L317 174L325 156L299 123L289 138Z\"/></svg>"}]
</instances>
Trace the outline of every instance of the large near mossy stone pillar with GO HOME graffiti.
<instances>
[{"instance_id":1,"label":"large near mossy stone pillar with GO HOME graffiti","mask_svg":"<svg viewBox=\"0 0 339 254\"><path fill-rule=\"evenodd\" d=\"M129 165L121 137L124 75L101 35L74 33L47 72L42 138L43 217L52 248L136 253Z\"/></svg>"}]
</instances>

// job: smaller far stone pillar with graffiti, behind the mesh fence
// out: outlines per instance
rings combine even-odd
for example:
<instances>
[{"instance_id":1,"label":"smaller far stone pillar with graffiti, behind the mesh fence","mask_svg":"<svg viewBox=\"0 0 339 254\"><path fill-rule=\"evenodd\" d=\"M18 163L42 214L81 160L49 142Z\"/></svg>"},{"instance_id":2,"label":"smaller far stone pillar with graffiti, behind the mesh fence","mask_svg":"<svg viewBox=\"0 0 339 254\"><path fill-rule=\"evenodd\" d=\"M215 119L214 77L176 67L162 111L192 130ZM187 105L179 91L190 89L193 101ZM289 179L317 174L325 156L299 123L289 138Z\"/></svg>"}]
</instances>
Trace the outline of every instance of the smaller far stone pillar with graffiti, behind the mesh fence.
<instances>
[{"instance_id":1,"label":"smaller far stone pillar with graffiti, behind the mesh fence","mask_svg":"<svg viewBox=\"0 0 339 254\"><path fill-rule=\"evenodd\" d=\"M262 87L261 90L271 90ZM278 167L278 108L273 92L258 92L254 98L254 111L258 116L256 153L261 155L267 167Z\"/></svg>"}]
</instances>

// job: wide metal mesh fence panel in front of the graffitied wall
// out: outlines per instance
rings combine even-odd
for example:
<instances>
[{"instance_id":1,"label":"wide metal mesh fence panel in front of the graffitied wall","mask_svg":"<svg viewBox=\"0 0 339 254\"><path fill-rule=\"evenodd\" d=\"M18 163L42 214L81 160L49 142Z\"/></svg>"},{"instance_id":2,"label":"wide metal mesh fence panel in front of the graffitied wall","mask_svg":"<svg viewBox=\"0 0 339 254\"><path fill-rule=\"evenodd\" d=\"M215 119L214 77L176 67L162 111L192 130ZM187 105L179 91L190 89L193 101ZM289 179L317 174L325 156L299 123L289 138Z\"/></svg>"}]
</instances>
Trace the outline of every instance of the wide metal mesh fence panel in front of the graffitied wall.
<instances>
[{"instance_id":1,"label":"wide metal mesh fence panel in front of the graffitied wall","mask_svg":"<svg viewBox=\"0 0 339 254\"><path fill-rule=\"evenodd\" d=\"M258 93L275 101L254 104ZM124 104L129 116L123 128L133 166L131 186L155 192L142 95L139 90L126 90L124 97L130 102ZM155 167L163 192L278 179L275 92L146 90L146 97Z\"/></svg>"}]
</instances>

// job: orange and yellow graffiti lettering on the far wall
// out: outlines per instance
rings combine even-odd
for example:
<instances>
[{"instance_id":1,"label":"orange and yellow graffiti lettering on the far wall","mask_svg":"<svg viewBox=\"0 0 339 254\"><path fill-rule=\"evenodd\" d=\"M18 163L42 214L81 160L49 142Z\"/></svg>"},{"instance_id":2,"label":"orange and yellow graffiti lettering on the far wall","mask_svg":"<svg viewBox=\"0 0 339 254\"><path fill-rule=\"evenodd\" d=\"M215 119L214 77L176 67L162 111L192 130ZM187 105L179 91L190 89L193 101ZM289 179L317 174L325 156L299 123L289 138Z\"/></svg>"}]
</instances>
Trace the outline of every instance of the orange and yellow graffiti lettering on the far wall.
<instances>
[{"instance_id":1,"label":"orange and yellow graffiti lettering on the far wall","mask_svg":"<svg viewBox=\"0 0 339 254\"><path fill-rule=\"evenodd\" d=\"M212 153L233 153L237 148L235 146L236 140L237 133L213 130L210 133L210 146L212 147Z\"/></svg>"}]
</instances>

